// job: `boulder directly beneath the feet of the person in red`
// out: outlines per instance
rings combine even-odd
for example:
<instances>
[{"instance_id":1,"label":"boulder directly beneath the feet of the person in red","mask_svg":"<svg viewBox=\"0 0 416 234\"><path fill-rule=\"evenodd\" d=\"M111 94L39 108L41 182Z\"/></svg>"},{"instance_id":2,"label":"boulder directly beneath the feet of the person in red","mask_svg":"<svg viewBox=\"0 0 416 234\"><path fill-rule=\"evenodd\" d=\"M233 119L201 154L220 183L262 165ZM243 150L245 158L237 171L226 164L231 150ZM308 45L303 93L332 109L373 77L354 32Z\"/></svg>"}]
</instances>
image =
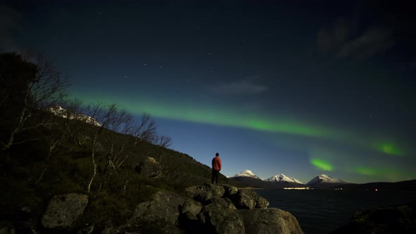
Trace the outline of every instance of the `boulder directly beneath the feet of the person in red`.
<instances>
[{"instance_id":1,"label":"boulder directly beneath the feet of the person in red","mask_svg":"<svg viewBox=\"0 0 416 234\"><path fill-rule=\"evenodd\" d=\"M204 183L201 186L192 186L185 189L186 195L196 199L198 202L206 203L212 197L222 197L225 189L223 186Z\"/></svg>"}]
</instances>

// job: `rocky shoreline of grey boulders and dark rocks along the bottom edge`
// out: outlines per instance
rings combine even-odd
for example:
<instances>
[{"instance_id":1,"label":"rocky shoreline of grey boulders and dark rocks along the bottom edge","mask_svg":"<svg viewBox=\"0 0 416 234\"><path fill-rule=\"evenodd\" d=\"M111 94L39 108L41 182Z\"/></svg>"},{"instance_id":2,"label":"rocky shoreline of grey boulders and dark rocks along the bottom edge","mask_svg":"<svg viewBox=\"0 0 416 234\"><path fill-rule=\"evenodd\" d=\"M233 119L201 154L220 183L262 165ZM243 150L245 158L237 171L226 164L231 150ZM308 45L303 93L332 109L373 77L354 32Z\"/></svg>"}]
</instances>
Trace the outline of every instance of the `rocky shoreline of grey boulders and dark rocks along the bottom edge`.
<instances>
[{"instance_id":1,"label":"rocky shoreline of grey boulders and dark rocks along the bottom edge","mask_svg":"<svg viewBox=\"0 0 416 234\"><path fill-rule=\"evenodd\" d=\"M84 194L55 196L39 221L22 221L19 227L1 221L0 233L303 233L288 211L267 208L267 199L231 185L204 183L187 187L181 195L159 190L148 201L137 204L126 223L118 226L111 221L80 225L88 202ZM30 210L22 211L30 214ZM371 209L358 212L331 233L416 233L415 217L415 202Z\"/></svg>"}]
</instances>

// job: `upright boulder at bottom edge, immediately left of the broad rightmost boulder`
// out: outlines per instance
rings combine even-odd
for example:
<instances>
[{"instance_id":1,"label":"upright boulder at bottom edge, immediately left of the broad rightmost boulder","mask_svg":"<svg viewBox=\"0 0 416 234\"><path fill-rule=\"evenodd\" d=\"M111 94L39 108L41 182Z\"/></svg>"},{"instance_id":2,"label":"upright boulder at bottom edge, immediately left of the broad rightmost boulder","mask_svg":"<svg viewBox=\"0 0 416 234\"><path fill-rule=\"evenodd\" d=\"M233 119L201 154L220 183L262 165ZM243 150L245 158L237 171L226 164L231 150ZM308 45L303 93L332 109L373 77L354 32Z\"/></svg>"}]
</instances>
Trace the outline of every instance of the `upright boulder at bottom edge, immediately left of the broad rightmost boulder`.
<instances>
[{"instance_id":1,"label":"upright boulder at bottom edge, immediately left of the broad rightmost boulder","mask_svg":"<svg viewBox=\"0 0 416 234\"><path fill-rule=\"evenodd\" d=\"M235 209L224 209L221 204L214 202L204 207L204 216L211 233L245 233L243 218Z\"/></svg>"}]
</instances>

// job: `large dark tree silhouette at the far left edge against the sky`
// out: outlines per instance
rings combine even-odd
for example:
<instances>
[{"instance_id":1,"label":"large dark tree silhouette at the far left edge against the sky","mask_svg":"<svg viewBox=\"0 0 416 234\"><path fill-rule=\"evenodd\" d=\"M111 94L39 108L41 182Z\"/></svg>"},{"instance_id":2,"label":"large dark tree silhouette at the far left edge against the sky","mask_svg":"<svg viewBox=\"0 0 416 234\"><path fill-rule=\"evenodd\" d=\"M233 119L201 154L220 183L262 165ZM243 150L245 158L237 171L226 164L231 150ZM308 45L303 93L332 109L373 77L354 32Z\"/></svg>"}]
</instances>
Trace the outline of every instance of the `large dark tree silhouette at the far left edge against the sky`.
<instances>
[{"instance_id":1,"label":"large dark tree silhouette at the far left edge against the sky","mask_svg":"<svg viewBox=\"0 0 416 234\"><path fill-rule=\"evenodd\" d=\"M32 61L16 53L0 54L0 149L29 141L16 142L16 136L24 130L51 124L39 121L26 125L39 109L62 103L66 87L68 82L42 54Z\"/></svg>"}]
</instances>

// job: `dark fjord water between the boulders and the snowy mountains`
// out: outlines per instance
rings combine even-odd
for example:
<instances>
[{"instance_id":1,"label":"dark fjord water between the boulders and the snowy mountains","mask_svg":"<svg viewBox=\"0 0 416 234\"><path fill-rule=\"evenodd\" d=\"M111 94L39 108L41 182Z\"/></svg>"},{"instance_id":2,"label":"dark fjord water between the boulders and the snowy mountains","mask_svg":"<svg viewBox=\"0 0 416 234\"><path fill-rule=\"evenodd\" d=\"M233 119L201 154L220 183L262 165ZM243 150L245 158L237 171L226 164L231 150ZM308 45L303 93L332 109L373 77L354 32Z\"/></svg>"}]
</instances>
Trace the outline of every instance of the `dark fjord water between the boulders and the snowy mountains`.
<instances>
[{"instance_id":1,"label":"dark fjord water between the boulders and the snowy mountains","mask_svg":"<svg viewBox=\"0 0 416 234\"><path fill-rule=\"evenodd\" d=\"M416 200L416 192L369 190L255 190L269 207L293 214L306 234L329 233L357 211Z\"/></svg>"}]
</instances>

